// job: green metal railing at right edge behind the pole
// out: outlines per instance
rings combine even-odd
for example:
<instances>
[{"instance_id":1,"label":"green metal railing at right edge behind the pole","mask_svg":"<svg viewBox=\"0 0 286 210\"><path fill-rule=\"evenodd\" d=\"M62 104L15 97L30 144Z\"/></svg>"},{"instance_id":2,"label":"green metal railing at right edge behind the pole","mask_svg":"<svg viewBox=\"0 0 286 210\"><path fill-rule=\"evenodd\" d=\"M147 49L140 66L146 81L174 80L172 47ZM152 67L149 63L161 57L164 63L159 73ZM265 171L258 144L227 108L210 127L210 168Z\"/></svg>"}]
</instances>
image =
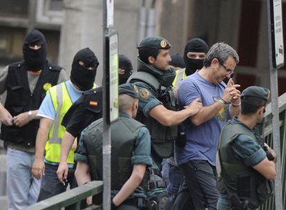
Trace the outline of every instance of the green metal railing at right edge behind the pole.
<instances>
[{"instance_id":1,"label":"green metal railing at right edge behind the pole","mask_svg":"<svg viewBox=\"0 0 286 210\"><path fill-rule=\"evenodd\" d=\"M276 184L282 184L282 203L283 203L283 209L286 209L286 198L285 198L285 187L286 187L286 93L281 95L278 98L278 109L279 109L279 127L280 127L280 160L281 160L281 171L282 171L282 183L278 183L278 180L276 180ZM273 148L273 142L272 142L272 122L271 122L271 104L268 104L266 107L265 117L263 126L261 126L261 131L263 133L263 136L265 137L265 142ZM275 195L271 195L271 197L267 200L265 204L263 204L260 209L261 210L274 210L275 209ZM282 209L276 209L276 210L282 210Z\"/></svg>"}]
</instances>

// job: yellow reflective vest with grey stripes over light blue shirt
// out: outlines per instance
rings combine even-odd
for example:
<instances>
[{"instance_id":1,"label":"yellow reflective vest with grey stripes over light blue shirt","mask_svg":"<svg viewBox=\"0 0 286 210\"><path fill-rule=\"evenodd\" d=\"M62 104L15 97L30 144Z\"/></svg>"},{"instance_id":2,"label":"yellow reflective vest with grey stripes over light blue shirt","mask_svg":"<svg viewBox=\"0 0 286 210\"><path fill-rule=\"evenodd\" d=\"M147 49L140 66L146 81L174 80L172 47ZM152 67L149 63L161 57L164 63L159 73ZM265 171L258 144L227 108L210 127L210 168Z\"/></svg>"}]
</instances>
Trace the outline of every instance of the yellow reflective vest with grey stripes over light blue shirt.
<instances>
[{"instance_id":1,"label":"yellow reflective vest with grey stripes over light blue shirt","mask_svg":"<svg viewBox=\"0 0 286 210\"><path fill-rule=\"evenodd\" d=\"M95 88L95 85L93 86ZM52 128L48 133L48 141L46 142L46 156L48 162L59 163L61 158L61 139L64 137L66 128L61 125L61 121L66 112L72 106L73 102L66 88L66 82L58 84L48 89L47 94L52 99L55 108L55 120ZM74 164L75 149L71 149L68 153L68 164Z\"/></svg>"}]
</instances>

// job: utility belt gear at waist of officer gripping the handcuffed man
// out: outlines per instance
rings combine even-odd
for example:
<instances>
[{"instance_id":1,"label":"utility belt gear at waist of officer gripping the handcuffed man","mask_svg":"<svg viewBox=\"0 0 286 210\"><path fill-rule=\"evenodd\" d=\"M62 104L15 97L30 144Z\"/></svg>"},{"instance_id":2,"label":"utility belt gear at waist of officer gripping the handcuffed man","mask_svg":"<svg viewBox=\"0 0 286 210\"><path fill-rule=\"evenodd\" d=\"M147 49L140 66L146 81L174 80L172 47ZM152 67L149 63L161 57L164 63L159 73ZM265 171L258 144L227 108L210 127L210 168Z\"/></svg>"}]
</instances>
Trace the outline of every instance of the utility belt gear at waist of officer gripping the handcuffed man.
<instances>
[{"instance_id":1,"label":"utility belt gear at waist of officer gripping the handcuffed man","mask_svg":"<svg viewBox=\"0 0 286 210\"><path fill-rule=\"evenodd\" d=\"M160 177L160 180L158 180L158 178L156 179L156 175ZM146 191L150 191L152 189L166 188L166 182L164 182L162 173L159 169L149 168L146 170L140 186Z\"/></svg>"}]
</instances>

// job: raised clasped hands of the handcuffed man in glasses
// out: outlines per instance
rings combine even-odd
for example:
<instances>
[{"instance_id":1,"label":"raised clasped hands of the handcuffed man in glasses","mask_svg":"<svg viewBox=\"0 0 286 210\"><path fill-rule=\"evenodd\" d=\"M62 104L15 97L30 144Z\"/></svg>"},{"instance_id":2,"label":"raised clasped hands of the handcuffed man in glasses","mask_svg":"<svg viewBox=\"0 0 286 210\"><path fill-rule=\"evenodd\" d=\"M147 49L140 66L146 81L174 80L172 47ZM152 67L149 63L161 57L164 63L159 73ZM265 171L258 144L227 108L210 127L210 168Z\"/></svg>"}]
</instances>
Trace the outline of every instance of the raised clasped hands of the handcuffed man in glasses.
<instances>
[{"instance_id":1,"label":"raised clasped hands of the handcuffed man in glasses","mask_svg":"<svg viewBox=\"0 0 286 210\"><path fill-rule=\"evenodd\" d=\"M222 99L229 103L239 104L240 103L240 90L236 89L239 88L239 84L234 84L232 79L229 79L227 82L227 87L225 88Z\"/></svg>"}]
</instances>

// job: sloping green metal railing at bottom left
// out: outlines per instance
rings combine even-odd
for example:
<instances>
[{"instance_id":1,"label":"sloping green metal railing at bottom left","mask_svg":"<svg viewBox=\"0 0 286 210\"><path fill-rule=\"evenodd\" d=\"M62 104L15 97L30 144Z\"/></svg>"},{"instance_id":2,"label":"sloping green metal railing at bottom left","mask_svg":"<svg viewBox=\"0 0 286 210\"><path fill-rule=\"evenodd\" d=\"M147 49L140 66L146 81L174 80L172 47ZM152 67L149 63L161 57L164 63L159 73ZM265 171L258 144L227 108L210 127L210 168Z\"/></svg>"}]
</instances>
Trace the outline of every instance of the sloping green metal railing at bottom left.
<instances>
[{"instance_id":1,"label":"sloping green metal railing at bottom left","mask_svg":"<svg viewBox=\"0 0 286 210\"><path fill-rule=\"evenodd\" d=\"M41 202L37 202L26 210L55 210L65 207L68 210L79 210L81 209L82 200L90 195L101 195L103 191L102 181L92 181L84 184L80 187L70 189L64 193L53 196ZM91 209L102 209L102 205L92 205L88 208Z\"/></svg>"}]
</instances>

